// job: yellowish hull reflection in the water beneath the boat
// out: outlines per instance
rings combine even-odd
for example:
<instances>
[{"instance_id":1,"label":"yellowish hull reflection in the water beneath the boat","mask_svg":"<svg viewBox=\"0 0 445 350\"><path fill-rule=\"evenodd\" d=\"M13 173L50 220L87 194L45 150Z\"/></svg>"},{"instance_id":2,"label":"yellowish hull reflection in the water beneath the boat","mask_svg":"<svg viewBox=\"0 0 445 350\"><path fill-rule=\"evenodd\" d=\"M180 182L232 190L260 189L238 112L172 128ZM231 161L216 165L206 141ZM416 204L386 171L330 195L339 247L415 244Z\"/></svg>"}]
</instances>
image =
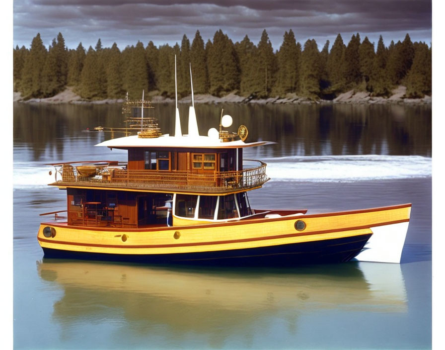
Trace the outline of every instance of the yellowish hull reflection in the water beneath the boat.
<instances>
[{"instance_id":1,"label":"yellowish hull reflection in the water beneath the boat","mask_svg":"<svg viewBox=\"0 0 445 350\"><path fill-rule=\"evenodd\" d=\"M294 324L299 315L326 309L407 312L399 264L198 270L44 259L38 272L64 292L53 312L62 324L123 315L124 322L163 324L175 332L221 327L228 335L253 320L279 316Z\"/></svg>"}]
</instances>

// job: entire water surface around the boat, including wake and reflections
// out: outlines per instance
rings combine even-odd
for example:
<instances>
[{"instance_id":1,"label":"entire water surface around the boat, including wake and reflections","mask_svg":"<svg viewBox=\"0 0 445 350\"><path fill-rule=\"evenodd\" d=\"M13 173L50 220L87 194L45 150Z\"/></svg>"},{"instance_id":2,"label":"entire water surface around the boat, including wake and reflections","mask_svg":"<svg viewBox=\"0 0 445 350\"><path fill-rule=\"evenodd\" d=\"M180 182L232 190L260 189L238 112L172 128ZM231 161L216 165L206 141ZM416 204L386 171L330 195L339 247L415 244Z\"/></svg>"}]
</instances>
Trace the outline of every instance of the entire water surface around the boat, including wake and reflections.
<instances>
[{"instance_id":1,"label":"entire water surface around the boat, including wake and reflections","mask_svg":"<svg viewBox=\"0 0 445 350\"><path fill-rule=\"evenodd\" d=\"M272 177L254 208L309 212L413 203L401 264L192 268L43 259L40 213L65 191L45 163L126 160L87 128L122 127L118 105L14 104L15 349L430 349L431 107L197 105L200 133L233 130ZM157 105L163 133L174 106ZM188 106L180 105L187 132Z\"/></svg>"}]
</instances>

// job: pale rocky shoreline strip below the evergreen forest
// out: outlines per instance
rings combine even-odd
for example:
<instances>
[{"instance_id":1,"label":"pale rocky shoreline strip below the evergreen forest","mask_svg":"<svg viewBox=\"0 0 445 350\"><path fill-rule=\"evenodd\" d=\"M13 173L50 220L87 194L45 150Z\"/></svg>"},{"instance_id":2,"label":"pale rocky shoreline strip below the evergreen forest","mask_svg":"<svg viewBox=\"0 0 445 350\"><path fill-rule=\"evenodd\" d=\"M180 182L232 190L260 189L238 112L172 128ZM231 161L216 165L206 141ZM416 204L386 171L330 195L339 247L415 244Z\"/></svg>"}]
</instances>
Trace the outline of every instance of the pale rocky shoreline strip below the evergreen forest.
<instances>
[{"instance_id":1,"label":"pale rocky shoreline strip below the evergreen forest","mask_svg":"<svg viewBox=\"0 0 445 350\"><path fill-rule=\"evenodd\" d=\"M285 97L270 97L267 99L253 99L251 97L242 97L235 93L229 93L223 97L216 97L210 94L195 94L195 103L256 103L256 104L332 104L332 103L350 103L350 104L382 104L382 103L396 103L396 104L431 104L431 96L423 98L406 98L406 87L399 86L392 90L390 97L371 96L366 91L350 90L338 95L333 100L310 99L307 97L298 96L295 93L288 93ZM159 95L148 96L153 103L171 103L174 99L163 97ZM14 92L14 102L24 103L73 103L73 104L113 104L122 103L123 99L104 99L104 100L85 100L74 93L71 87L53 97L48 98L32 98L24 100L20 92ZM181 98L178 103L191 103L191 96Z\"/></svg>"}]
</instances>

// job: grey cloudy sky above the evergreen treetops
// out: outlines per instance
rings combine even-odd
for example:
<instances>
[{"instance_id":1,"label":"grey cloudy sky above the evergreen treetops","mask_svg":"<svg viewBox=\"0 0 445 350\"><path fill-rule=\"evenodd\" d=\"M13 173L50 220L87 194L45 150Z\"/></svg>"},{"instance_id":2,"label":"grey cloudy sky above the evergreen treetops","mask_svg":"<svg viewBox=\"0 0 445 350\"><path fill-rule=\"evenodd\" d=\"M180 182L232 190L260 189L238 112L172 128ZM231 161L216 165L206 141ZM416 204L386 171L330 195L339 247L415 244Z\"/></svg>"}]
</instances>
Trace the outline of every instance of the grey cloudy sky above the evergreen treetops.
<instances>
[{"instance_id":1,"label":"grey cloudy sky above the evergreen treetops","mask_svg":"<svg viewBox=\"0 0 445 350\"><path fill-rule=\"evenodd\" d=\"M275 50L289 29L301 44L313 38L320 47L338 33L348 43L356 32L375 44L380 34L388 45L409 33L430 45L431 22L431 0L14 0L13 45L29 47L40 33L48 46L61 32L69 48L94 47L99 38L120 49L138 40L172 46L184 34L192 42L197 30L212 40L219 29L255 44L266 29Z\"/></svg>"}]
</instances>

